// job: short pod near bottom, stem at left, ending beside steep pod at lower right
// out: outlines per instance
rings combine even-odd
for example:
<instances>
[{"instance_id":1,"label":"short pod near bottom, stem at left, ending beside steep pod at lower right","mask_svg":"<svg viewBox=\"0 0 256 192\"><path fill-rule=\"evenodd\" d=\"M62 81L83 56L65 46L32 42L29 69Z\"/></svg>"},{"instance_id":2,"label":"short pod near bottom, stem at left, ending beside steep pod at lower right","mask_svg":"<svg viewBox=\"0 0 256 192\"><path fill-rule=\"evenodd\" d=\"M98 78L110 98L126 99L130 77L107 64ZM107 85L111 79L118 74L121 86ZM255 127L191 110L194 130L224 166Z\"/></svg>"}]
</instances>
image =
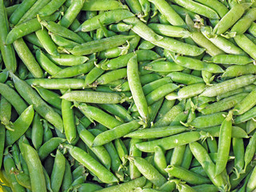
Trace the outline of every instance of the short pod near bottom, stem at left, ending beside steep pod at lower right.
<instances>
[{"instance_id":1,"label":"short pod near bottom, stem at left, ending beside steep pod at lower right","mask_svg":"<svg viewBox=\"0 0 256 192\"><path fill-rule=\"evenodd\" d=\"M200 174L195 174L190 170L186 170L182 166L170 165L166 167L166 172L175 178L179 178L192 185L202 185L211 183L209 178L202 177Z\"/></svg>"}]
</instances>

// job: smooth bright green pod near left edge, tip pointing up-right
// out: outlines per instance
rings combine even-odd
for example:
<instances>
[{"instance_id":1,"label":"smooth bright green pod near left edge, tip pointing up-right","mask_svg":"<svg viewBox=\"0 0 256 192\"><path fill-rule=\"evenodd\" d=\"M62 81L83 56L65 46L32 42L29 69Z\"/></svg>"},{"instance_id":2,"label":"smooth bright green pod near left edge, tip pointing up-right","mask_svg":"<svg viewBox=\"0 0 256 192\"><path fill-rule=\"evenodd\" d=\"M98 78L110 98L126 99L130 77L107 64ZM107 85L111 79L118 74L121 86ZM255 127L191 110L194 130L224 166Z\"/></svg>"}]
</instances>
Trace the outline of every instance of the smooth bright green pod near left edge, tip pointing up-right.
<instances>
[{"instance_id":1,"label":"smooth bright green pod near left edge, tip pointing up-right","mask_svg":"<svg viewBox=\"0 0 256 192\"><path fill-rule=\"evenodd\" d=\"M33 106L29 106L22 112L20 117L14 122L14 131L6 130L6 143L7 145L12 145L25 134L26 130L29 128L32 120L34 118Z\"/></svg>"}]
</instances>

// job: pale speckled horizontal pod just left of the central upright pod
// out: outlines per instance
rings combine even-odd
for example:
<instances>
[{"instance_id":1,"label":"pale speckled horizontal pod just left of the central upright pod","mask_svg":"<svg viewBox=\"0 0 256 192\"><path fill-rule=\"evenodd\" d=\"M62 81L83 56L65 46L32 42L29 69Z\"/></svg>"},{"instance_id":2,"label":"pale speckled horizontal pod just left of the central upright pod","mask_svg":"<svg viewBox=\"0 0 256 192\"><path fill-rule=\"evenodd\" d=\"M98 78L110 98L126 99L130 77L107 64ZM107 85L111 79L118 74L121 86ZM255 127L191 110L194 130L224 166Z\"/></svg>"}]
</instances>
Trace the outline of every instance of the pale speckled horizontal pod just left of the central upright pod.
<instances>
[{"instance_id":1,"label":"pale speckled horizontal pod just left of the central upright pod","mask_svg":"<svg viewBox=\"0 0 256 192\"><path fill-rule=\"evenodd\" d=\"M115 93L105 93L98 91L74 90L66 92L61 98L70 102L90 102L90 103L105 103L114 104L125 102L126 97Z\"/></svg>"}]
</instances>

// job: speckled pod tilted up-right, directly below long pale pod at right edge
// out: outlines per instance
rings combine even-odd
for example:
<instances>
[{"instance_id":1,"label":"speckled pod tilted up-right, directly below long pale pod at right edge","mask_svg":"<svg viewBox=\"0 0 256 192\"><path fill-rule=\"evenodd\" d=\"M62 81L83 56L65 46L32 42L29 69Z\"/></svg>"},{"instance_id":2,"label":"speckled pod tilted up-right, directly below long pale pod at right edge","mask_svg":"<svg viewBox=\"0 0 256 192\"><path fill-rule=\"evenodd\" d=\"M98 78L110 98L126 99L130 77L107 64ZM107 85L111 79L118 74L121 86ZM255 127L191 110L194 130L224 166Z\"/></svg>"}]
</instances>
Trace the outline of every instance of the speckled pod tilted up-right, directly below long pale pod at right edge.
<instances>
[{"instance_id":1,"label":"speckled pod tilted up-right, directly below long pale pod at right edge","mask_svg":"<svg viewBox=\"0 0 256 192\"><path fill-rule=\"evenodd\" d=\"M229 110L234 106L240 105L239 103L242 102L247 95L247 93L235 94L229 98L224 98L218 102L214 102L199 111L202 114L214 114L224 110Z\"/></svg>"}]
</instances>

